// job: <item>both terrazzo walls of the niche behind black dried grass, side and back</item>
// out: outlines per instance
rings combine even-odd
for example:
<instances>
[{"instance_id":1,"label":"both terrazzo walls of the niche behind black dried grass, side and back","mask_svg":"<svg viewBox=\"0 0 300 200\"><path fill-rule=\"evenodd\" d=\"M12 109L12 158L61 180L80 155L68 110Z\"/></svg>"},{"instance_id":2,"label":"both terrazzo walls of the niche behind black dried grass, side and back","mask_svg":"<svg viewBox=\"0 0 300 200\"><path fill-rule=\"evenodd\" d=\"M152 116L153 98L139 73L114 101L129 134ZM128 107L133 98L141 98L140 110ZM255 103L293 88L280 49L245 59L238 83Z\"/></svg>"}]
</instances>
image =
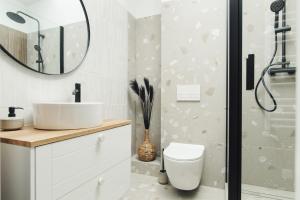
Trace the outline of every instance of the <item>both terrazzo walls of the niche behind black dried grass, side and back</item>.
<instances>
[{"instance_id":1,"label":"both terrazzo walls of the niche behind black dried grass, side and back","mask_svg":"<svg viewBox=\"0 0 300 200\"><path fill-rule=\"evenodd\" d=\"M129 14L129 78L136 78L143 83L143 78L149 78L154 86L155 96L153 114L150 126L151 141L157 147L160 155L160 73L161 73L161 16L150 16L135 19ZM133 56L133 52L134 56ZM132 92L130 98L131 119L133 128L133 154L144 139L144 123L140 103ZM133 103L133 104L132 104Z\"/></svg>"}]
</instances>

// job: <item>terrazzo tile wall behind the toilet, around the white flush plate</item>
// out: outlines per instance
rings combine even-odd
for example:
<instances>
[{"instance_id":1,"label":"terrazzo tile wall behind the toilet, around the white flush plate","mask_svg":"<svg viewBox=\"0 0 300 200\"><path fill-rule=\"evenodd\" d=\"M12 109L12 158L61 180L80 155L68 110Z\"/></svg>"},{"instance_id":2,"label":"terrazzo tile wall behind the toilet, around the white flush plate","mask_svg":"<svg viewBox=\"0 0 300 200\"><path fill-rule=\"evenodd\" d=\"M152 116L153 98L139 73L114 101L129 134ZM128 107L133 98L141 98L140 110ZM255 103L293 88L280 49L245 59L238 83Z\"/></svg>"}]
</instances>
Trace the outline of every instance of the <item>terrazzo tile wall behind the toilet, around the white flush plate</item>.
<instances>
[{"instance_id":1,"label":"terrazzo tile wall behind the toilet, around the white flush plate","mask_svg":"<svg viewBox=\"0 0 300 200\"><path fill-rule=\"evenodd\" d=\"M200 84L200 102L177 102L178 84ZM226 1L162 5L162 146L205 145L203 185L224 188Z\"/></svg>"}]
</instances>

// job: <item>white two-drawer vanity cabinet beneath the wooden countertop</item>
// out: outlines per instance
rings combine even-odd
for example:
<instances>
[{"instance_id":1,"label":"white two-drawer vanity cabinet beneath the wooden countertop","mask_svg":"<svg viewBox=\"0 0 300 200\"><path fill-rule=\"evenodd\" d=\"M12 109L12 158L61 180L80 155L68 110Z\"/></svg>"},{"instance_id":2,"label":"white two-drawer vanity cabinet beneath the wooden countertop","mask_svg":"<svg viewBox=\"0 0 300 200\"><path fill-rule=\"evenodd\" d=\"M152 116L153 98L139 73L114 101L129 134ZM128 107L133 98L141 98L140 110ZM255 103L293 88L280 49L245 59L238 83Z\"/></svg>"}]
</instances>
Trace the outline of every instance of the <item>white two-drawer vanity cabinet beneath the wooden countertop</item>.
<instances>
[{"instance_id":1,"label":"white two-drawer vanity cabinet beneath the wooden countertop","mask_svg":"<svg viewBox=\"0 0 300 200\"><path fill-rule=\"evenodd\" d=\"M38 147L2 143L2 200L117 200L130 185L131 126Z\"/></svg>"}]
</instances>

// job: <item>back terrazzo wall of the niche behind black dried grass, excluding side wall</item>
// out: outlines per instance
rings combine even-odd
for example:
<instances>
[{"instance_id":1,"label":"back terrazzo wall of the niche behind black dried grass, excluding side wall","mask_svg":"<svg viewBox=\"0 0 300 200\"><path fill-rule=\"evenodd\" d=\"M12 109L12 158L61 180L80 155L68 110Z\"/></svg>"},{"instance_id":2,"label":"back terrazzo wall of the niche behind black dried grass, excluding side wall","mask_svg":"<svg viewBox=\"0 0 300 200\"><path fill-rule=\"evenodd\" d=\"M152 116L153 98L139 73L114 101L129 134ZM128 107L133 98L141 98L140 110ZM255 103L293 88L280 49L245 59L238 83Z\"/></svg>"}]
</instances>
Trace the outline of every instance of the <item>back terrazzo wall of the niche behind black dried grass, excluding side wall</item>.
<instances>
[{"instance_id":1,"label":"back terrazzo wall of the niche behind black dried grass, excluding side wall","mask_svg":"<svg viewBox=\"0 0 300 200\"><path fill-rule=\"evenodd\" d=\"M155 15L136 20L136 77L141 83L149 78L154 87L154 104L150 126L151 141L160 155L161 128L161 16ZM136 106L136 148L144 140L144 122L140 104Z\"/></svg>"}]
</instances>

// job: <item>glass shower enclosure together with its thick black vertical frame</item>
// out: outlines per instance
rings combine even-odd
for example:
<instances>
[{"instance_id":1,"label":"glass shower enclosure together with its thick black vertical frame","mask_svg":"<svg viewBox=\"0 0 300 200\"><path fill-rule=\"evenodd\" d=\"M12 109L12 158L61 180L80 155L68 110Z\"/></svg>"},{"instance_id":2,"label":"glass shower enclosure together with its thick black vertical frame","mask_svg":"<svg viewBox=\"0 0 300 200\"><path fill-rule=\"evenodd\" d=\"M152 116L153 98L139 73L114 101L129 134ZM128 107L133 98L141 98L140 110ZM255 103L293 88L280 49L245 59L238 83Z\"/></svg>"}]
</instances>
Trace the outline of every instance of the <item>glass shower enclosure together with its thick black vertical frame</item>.
<instances>
[{"instance_id":1,"label":"glass shower enclosure together with its thick black vertical frame","mask_svg":"<svg viewBox=\"0 0 300 200\"><path fill-rule=\"evenodd\" d=\"M229 1L229 199L295 199L296 3Z\"/></svg>"}]
</instances>

